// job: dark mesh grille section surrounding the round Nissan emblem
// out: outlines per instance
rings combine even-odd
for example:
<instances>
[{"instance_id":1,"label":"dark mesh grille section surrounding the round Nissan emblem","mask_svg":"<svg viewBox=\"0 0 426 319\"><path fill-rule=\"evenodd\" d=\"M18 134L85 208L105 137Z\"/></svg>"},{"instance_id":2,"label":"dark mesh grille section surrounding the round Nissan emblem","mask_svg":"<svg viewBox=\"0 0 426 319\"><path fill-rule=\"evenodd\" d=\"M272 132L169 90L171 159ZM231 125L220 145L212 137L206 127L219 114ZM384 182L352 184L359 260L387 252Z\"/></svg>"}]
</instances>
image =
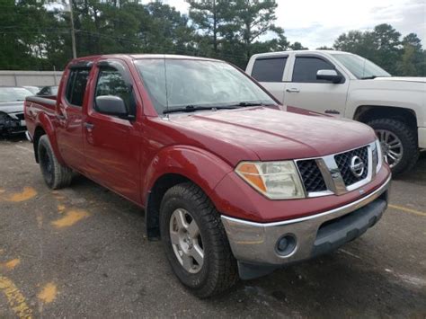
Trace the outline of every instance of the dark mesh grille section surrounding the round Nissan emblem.
<instances>
[{"instance_id":1,"label":"dark mesh grille section surrounding the round Nissan emblem","mask_svg":"<svg viewBox=\"0 0 426 319\"><path fill-rule=\"evenodd\" d=\"M351 160L353 156L359 156L361 161L364 163L364 172L358 177L351 171ZM341 172L343 182L346 186L349 186L355 182L364 180L368 175L368 147L360 147L353 149L349 152L334 155L337 167Z\"/></svg>"}]
</instances>

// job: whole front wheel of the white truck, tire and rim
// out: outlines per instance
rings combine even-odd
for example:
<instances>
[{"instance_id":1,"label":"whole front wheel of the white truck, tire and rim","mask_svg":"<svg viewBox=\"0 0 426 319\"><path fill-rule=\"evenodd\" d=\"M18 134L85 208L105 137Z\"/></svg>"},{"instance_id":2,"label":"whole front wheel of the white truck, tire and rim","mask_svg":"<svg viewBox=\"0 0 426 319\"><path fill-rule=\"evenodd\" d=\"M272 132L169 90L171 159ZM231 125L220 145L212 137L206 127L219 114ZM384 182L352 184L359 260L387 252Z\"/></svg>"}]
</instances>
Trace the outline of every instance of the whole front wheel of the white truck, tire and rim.
<instances>
[{"instance_id":1,"label":"whole front wheel of the white truck, tire and rim","mask_svg":"<svg viewBox=\"0 0 426 319\"><path fill-rule=\"evenodd\" d=\"M368 122L376 131L382 152L392 173L404 173L413 168L419 157L417 137L412 128L400 120L377 119Z\"/></svg>"}]
</instances>

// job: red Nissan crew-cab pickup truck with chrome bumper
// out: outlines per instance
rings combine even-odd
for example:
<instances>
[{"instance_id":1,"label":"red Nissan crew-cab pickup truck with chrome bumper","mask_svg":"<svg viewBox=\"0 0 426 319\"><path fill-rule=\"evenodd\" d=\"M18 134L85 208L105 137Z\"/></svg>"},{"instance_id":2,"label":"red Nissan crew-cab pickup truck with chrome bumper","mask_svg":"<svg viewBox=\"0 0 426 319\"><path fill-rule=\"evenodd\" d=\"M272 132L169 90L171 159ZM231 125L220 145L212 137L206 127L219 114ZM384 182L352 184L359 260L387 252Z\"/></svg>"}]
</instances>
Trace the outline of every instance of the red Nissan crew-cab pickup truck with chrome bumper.
<instances>
[{"instance_id":1,"label":"red Nissan crew-cab pickup truck with chrome bumper","mask_svg":"<svg viewBox=\"0 0 426 319\"><path fill-rule=\"evenodd\" d=\"M199 297L331 252L387 205L371 128L282 111L214 59L78 58L25 119L49 187L78 172L144 208L148 238Z\"/></svg>"}]
</instances>

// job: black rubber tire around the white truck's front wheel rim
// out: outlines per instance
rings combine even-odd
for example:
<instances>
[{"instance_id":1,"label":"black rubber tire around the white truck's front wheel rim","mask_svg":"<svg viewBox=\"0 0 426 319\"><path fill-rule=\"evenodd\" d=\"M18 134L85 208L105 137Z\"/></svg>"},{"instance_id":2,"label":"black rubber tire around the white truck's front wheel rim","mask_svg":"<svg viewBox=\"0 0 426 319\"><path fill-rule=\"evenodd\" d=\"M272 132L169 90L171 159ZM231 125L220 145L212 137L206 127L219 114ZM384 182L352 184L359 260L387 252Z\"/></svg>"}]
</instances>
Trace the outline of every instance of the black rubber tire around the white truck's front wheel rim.
<instances>
[{"instance_id":1,"label":"black rubber tire around the white truck's front wheel rim","mask_svg":"<svg viewBox=\"0 0 426 319\"><path fill-rule=\"evenodd\" d=\"M416 132L407 124L394 119L377 119L367 123L375 130L386 129L401 140L403 145L403 156L399 163L392 167L392 173L397 175L413 169L419 158L419 147Z\"/></svg>"}]
</instances>

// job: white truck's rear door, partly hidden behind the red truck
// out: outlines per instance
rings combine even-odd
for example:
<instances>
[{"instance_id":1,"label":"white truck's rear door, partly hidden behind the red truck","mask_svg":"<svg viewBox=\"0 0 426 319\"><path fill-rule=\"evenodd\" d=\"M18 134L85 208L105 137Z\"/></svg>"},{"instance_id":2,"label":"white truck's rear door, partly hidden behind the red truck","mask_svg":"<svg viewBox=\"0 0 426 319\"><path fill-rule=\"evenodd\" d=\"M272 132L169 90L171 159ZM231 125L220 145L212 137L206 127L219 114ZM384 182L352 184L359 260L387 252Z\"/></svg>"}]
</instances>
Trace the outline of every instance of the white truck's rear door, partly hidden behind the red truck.
<instances>
[{"instance_id":1,"label":"white truck's rear door, partly hidden behind the red truck","mask_svg":"<svg viewBox=\"0 0 426 319\"><path fill-rule=\"evenodd\" d=\"M284 102L286 87L284 69L287 60L287 54L261 56L254 59L251 71L247 68L247 73L260 82L281 103Z\"/></svg>"}]
</instances>

